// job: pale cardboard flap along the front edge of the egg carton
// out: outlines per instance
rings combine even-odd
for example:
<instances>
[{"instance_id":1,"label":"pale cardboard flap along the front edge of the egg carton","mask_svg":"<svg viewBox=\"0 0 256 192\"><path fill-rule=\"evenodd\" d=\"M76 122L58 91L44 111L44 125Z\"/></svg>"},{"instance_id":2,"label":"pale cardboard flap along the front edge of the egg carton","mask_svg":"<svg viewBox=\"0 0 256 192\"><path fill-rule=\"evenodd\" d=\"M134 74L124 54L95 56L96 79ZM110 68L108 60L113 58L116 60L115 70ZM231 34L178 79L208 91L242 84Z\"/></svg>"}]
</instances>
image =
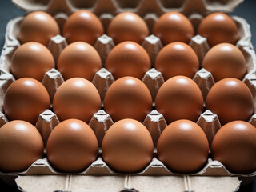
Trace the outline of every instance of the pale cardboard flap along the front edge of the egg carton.
<instances>
[{"instance_id":1,"label":"pale cardboard flap along the front edge of the egg carton","mask_svg":"<svg viewBox=\"0 0 256 192\"><path fill-rule=\"evenodd\" d=\"M134 189L139 192L234 192L240 181L237 177L196 176L19 176L19 189L26 192L54 190L72 192L118 192Z\"/></svg>"}]
</instances>

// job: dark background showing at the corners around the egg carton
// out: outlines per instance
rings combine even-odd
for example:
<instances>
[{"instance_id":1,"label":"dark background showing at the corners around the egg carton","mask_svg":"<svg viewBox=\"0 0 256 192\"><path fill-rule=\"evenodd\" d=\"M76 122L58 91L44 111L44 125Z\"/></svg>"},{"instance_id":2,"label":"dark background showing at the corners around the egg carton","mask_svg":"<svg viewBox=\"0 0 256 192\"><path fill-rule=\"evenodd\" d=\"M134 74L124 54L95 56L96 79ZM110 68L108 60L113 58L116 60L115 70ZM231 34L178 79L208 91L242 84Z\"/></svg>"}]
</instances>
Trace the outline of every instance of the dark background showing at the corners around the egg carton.
<instances>
[{"instance_id":1,"label":"dark background showing at the corners around the egg carton","mask_svg":"<svg viewBox=\"0 0 256 192\"><path fill-rule=\"evenodd\" d=\"M128 1L128 0L127 0ZM233 0L234 1L234 0ZM12 19L20 15L25 14L24 11L14 6L11 0L0 0L0 50L5 41L6 24ZM237 15L245 18L250 24L250 30L252 33L252 43L256 47L256 1L255 0L244 0L244 2L234 10L231 15ZM3 190L6 188L6 190ZM0 180L0 191L5 192L18 192L16 186L7 186L2 180ZM250 182L249 185L241 186L238 192L256 192L256 180Z\"/></svg>"}]
</instances>

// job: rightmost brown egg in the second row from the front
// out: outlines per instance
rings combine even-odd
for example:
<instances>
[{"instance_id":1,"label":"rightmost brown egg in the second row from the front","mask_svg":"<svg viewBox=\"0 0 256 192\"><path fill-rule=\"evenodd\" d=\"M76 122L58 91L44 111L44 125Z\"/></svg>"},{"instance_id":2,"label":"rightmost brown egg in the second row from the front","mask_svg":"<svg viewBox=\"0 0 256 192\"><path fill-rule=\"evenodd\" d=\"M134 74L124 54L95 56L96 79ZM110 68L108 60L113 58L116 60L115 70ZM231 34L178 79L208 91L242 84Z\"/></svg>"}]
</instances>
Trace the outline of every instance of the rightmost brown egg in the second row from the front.
<instances>
[{"instance_id":1,"label":"rightmost brown egg in the second row from the front","mask_svg":"<svg viewBox=\"0 0 256 192\"><path fill-rule=\"evenodd\" d=\"M247 121L254 113L254 99L245 83L224 78L210 89L206 108L218 115L222 125L234 120Z\"/></svg>"}]
</instances>

